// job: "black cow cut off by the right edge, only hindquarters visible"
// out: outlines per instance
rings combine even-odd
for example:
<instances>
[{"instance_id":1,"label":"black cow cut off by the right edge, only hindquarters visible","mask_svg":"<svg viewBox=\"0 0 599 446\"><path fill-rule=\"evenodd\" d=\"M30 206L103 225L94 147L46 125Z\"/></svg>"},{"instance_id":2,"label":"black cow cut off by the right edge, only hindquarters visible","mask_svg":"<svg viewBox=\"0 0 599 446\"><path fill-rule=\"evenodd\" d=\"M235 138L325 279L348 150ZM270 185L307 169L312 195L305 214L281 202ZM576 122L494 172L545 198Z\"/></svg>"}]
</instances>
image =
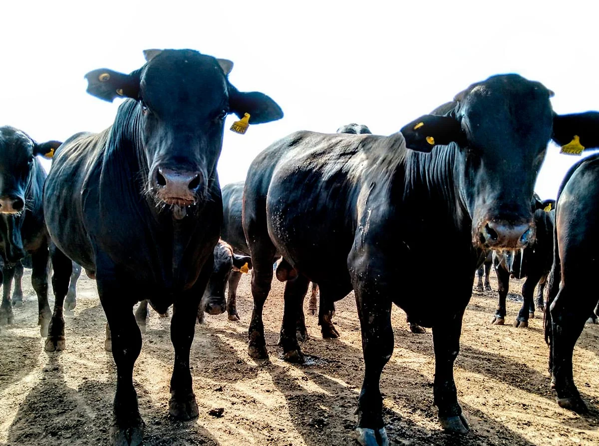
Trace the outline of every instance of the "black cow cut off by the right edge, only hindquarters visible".
<instances>
[{"instance_id":1,"label":"black cow cut off by the right edge, only hindquarters visible","mask_svg":"<svg viewBox=\"0 0 599 446\"><path fill-rule=\"evenodd\" d=\"M595 123L598 113L586 114L589 136L576 132L579 143L592 147L599 139ZM567 135L564 135L567 136ZM565 141L565 137L562 141ZM599 267L599 154L577 162L559 187L553 231L553 267L549 275L545 339L549 343L549 372L558 404L576 412L586 405L574 384L572 356L574 344L585 321L597 305L594 281Z\"/></svg>"}]
</instances>

